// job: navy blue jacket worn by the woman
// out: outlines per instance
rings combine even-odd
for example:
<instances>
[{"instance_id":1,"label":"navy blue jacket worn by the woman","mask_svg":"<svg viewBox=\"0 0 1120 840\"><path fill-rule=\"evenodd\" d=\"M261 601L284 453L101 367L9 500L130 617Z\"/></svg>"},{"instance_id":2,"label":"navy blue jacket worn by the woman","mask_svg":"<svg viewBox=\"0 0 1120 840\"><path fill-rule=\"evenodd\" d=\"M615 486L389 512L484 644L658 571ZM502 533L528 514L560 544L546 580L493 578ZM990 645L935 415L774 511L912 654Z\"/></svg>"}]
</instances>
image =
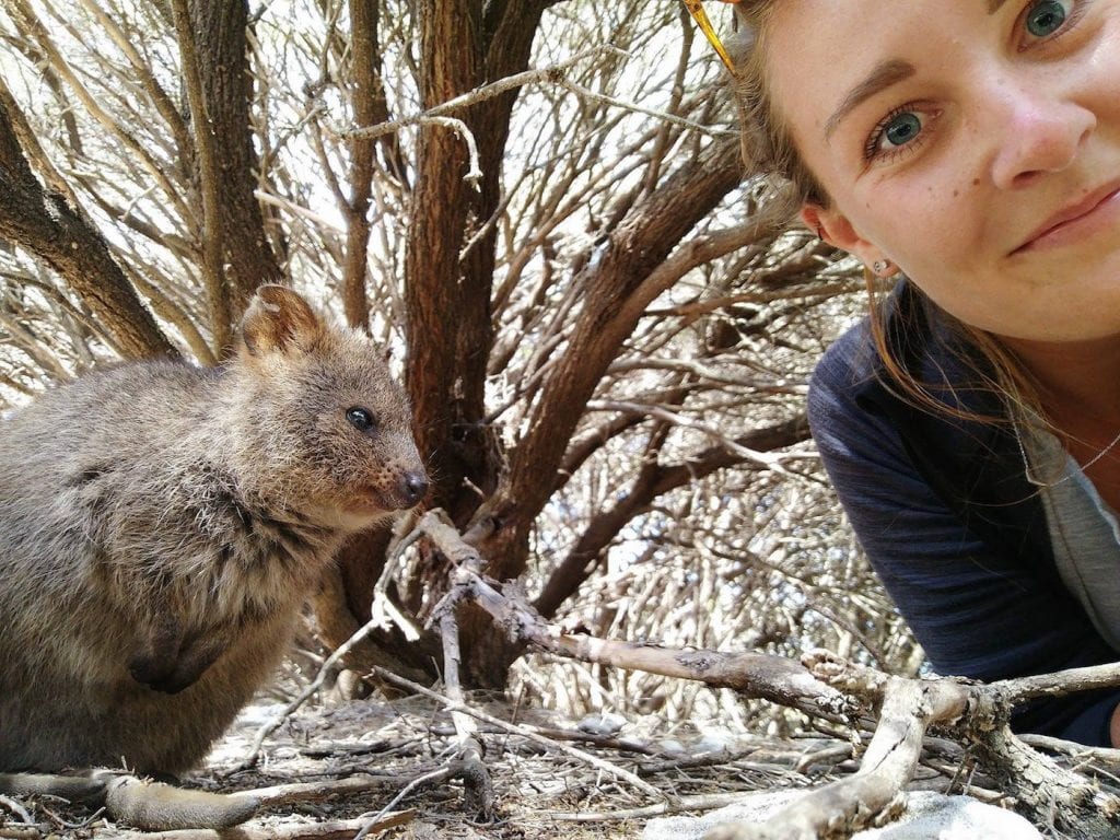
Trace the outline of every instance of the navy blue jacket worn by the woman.
<instances>
[{"instance_id":1,"label":"navy blue jacket worn by the woman","mask_svg":"<svg viewBox=\"0 0 1120 840\"><path fill-rule=\"evenodd\" d=\"M970 386L968 351L903 282L885 301L887 342L946 405L1006 416ZM809 420L840 502L914 635L941 674L983 681L1112 662L1118 656L1065 589L1046 514L1008 423L960 420L899 396L867 320L813 374ZM1120 691L1034 703L1018 731L1108 746Z\"/></svg>"}]
</instances>

